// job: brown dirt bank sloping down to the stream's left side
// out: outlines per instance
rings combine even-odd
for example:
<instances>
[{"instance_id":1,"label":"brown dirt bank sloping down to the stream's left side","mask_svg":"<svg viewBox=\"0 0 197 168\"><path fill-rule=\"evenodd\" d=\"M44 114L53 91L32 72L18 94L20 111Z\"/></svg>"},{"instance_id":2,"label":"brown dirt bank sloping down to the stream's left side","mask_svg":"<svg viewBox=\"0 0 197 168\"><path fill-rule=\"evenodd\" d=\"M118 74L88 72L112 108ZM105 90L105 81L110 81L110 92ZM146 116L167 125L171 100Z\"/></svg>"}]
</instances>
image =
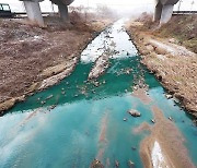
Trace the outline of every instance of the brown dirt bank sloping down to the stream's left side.
<instances>
[{"instance_id":1,"label":"brown dirt bank sloping down to the stream's left side","mask_svg":"<svg viewBox=\"0 0 197 168\"><path fill-rule=\"evenodd\" d=\"M95 17L83 21L76 14L71 15L69 25L62 25L57 17L45 20L44 28L16 20L0 20L1 115L26 95L69 75L80 52L113 22Z\"/></svg>"}]
</instances>

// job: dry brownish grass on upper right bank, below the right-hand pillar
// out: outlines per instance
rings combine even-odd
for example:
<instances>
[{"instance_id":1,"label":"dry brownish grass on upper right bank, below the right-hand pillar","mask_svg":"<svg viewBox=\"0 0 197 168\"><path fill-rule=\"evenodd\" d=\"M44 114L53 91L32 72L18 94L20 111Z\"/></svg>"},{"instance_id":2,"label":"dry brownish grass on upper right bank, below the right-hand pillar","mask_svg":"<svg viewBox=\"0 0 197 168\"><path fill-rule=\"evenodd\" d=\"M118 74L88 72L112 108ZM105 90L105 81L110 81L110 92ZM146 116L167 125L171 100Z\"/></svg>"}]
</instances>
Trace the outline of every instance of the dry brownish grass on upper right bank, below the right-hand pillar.
<instances>
[{"instance_id":1,"label":"dry brownish grass on upper right bank, below the right-hand pillar","mask_svg":"<svg viewBox=\"0 0 197 168\"><path fill-rule=\"evenodd\" d=\"M197 52L197 15L174 15L171 21L161 27L152 23L152 15L142 13L138 22L143 23L141 31L147 31L159 37L175 38L178 45L183 45Z\"/></svg>"}]
</instances>

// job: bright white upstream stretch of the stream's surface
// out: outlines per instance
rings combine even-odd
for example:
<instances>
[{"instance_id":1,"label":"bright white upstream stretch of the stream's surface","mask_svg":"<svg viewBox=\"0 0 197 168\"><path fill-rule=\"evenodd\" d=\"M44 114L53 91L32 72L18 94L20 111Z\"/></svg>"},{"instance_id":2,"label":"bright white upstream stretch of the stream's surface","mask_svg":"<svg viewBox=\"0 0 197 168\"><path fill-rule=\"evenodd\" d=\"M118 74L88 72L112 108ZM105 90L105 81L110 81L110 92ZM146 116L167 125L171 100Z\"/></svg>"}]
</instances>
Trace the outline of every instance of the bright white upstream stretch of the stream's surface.
<instances>
[{"instance_id":1,"label":"bright white upstream stretch of the stream's surface","mask_svg":"<svg viewBox=\"0 0 197 168\"><path fill-rule=\"evenodd\" d=\"M94 62L106 50L114 51L109 58L125 58L137 55L136 47L124 28L125 20L117 21L113 26L102 32L81 53L83 63Z\"/></svg>"}]
</instances>

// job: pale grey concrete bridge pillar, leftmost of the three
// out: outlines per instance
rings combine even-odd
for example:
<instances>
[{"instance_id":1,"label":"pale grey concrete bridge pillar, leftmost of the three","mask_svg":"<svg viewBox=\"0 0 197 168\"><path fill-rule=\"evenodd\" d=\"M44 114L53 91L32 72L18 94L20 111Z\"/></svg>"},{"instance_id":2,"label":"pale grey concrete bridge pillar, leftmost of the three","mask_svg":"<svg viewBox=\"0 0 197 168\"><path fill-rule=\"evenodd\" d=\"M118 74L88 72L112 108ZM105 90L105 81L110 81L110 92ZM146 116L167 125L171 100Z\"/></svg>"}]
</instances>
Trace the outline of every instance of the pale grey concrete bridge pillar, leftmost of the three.
<instances>
[{"instance_id":1,"label":"pale grey concrete bridge pillar, leftmost of the three","mask_svg":"<svg viewBox=\"0 0 197 168\"><path fill-rule=\"evenodd\" d=\"M38 1L24 1L24 7L28 16L28 20L39 26L44 26L44 20Z\"/></svg>"}]
</instances>

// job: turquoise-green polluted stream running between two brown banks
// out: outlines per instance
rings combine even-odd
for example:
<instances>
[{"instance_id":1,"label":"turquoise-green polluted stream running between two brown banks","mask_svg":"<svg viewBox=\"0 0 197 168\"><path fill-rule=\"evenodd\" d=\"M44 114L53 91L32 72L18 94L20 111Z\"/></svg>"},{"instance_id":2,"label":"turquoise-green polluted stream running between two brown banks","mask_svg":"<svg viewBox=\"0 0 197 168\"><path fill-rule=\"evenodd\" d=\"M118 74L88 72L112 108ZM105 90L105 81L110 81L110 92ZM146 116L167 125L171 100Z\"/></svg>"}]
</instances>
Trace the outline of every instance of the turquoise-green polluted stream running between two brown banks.
<instances>
[{"instance_id":1,"label":"turquoise-green polluted stream running between two brown banks","mask_svg":"<svg viewBox=\"0 0 197 168\"><path fill-rule=\"evenodd\" d=\"M173 120L197 165L197 128L192 117L166 98L164 88L140 63L123 25L120 20L102 32L81 53L71 75L0 118L1 168L88 168L94 158L104 167L134 163L141 168L140 143L150 130L137 128L144 122L154 125L152 106Z\"/></svg>"}]
</instances>

